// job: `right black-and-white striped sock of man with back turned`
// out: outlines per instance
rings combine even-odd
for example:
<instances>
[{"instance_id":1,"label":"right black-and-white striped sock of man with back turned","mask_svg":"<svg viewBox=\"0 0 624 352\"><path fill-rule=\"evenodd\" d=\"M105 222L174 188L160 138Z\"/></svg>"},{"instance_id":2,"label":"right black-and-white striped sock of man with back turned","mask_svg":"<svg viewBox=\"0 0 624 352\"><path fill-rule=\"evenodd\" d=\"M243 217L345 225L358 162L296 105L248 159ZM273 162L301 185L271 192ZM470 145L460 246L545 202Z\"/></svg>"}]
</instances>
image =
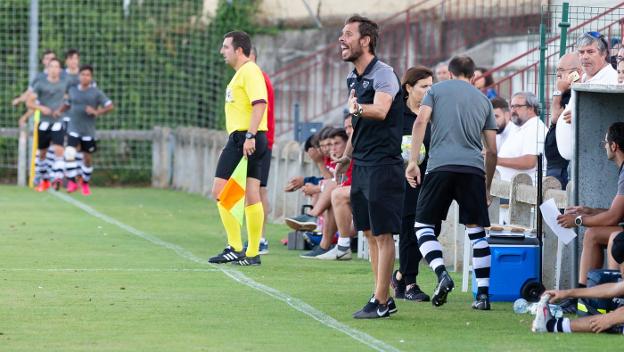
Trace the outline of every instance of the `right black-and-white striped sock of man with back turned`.
<instances>
[{"instance_id":1,"label":"right black-and-white striped sock of man with back turned","mask_svg":"<svg viewBox=\"0 0 624 352\"><path fill-rule=\"evenodd\" d=\"M492 256L485 230L482 227L466 228L466 234L472 245L472 270L477 281L477 295L488 294Z\"/></svg>"}]
</instances>

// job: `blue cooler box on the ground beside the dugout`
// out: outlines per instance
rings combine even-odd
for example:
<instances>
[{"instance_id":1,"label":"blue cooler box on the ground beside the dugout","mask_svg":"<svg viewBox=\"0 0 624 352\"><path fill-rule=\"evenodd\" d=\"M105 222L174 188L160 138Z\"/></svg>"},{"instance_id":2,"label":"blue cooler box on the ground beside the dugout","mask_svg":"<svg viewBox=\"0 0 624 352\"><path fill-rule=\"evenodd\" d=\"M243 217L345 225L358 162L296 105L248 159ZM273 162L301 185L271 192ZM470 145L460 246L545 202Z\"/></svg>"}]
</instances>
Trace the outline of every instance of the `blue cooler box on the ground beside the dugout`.
<instances>
[{"instance_id":1,"label":"blue cooler box on the ground beside the dugout","mask_svg":"<svg viewBox=\"0 0 624 352\"><path fill-rule=\"evenodd\" d=\"M492 252L490 300L513 302L539 283L540 250L535 237L488 237ZM477 281L472 275L472 294Z\"/></svg>"}]
</instances>

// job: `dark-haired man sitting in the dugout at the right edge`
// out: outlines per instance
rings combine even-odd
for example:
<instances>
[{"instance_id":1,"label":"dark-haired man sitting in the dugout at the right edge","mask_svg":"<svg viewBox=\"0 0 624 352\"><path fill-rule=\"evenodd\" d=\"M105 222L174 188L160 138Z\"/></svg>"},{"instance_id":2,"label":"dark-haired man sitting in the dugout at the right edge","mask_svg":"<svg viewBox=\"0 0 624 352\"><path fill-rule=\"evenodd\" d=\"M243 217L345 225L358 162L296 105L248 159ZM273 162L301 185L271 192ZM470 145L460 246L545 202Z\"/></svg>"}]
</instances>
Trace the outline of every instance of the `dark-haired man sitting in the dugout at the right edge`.
<instances>
[{"instance_id":1,"label":"dark-haired man sitting in the dugout at the right edge","mask_svg":"<svg viewBox=\"0 0 624 352\"><path fill-rule=\"evenodd\" d=\"M624 122L616 122L609 126L604 148L607 158L619 167L618 190L609 209L595 209L576 206L566 209L559 215L557 221L563 227L585 226L587 230L583 237L583 251L579 266L578 287L587 284L587 273L601 268L604 262L603 248L609 241L609 236L615 231L621 231L617 224L624 218ZM609 267L614 268L610 262ZM576 306L574 304L574 306Z\"/></svg>"}]
</instances>

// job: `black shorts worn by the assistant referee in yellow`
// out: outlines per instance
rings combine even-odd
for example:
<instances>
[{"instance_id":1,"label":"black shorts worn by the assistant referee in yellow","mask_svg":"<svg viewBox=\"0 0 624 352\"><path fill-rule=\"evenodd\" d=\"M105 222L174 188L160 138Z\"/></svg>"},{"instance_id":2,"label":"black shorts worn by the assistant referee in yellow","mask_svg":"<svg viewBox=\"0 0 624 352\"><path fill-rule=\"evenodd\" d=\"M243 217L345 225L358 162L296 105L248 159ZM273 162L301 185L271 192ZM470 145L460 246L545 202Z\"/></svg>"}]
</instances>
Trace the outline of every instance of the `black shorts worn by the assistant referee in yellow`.
<instances>
[{"instance_id":1,"label":"black shorts worn by the assistant referee in yellow","mask_svg":"<svg viewBox=\"0 0 624 352\"><path fill-rule=\"evenodd\" d=\"M217 163L217 172L215 176L222 179L228 179L232 176L234 169L243 157L243 144L245 143L245 133L247 131L235 131L228 137L225 148L221 151L219 162ZM258 132L256 134L256 151L248 158L247 177L253 177L260 180L262 177L262 158L267 151L266 133Z\"/></svg>"}]
</instances>

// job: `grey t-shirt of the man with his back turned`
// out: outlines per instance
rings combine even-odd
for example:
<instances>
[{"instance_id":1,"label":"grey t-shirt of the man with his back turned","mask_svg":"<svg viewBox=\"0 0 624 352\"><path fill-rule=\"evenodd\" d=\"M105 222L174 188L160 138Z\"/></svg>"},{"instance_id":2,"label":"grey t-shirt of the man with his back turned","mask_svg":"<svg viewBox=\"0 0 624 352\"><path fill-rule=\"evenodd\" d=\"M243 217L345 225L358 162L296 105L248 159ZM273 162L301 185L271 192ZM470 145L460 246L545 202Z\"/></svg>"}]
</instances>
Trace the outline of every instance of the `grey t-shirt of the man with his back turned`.
<instances>
[{"instance_id":1,"label":"grey t-shirt of the man with his back turned","mask_svg":"<svg viewBox=\"0 0 624 352\"><path fill-rule=\"evenodd\" d=\"M467 166L485 172L483 130L497 130L490 100L461 80L434 84L423 98L432 108L427 172L445 166Z\"/></svg>"}]
</instances>

